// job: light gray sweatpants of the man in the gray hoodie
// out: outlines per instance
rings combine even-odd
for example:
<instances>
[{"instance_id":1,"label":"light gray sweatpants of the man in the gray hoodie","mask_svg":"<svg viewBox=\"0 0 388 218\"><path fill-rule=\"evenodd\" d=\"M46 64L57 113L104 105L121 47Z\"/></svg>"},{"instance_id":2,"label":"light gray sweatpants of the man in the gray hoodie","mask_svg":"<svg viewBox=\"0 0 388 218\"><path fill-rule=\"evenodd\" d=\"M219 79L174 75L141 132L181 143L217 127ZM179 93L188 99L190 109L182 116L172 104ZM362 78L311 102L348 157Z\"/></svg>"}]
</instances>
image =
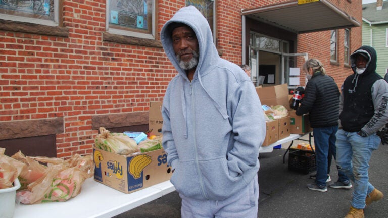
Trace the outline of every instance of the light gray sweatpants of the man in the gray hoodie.
<instances>
[{"instance_id":1,"label":"light gray sweatpants of the man in the gray hoodie","mask_svg":"<svg viewBox=\"0 0 388 218\"><path fill-rule=\"evenodd\" d=\"M181 194L180 197L182 218L257 218L259 209L257 174L246 188L224 200L196 200Z\"/></svg>"}]
</instances>

